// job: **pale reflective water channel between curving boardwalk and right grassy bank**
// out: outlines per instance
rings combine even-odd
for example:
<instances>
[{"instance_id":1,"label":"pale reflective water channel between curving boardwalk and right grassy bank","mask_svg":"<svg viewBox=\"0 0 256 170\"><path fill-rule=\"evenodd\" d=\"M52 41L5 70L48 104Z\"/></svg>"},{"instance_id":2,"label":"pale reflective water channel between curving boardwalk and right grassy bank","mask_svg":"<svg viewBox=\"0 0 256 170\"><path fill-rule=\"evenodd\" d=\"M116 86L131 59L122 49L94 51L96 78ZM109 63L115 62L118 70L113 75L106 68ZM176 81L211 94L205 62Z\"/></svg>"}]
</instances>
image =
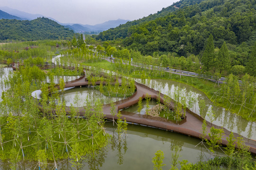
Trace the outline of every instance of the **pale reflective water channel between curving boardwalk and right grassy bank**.
<instances>
[{"instance_id":1,"label":"pale reflective water channel between curving boardwalk and right grassy bank","mask_svg":"<svg viewBox=\"0 0 256 170\"><path fill-rule=\"evenodd\" d=\"M141 83L141 79L136 79L136 81ZM195 113L200 115L198 101L204 100L206 107L203 111L204 114L202 115L202 117L210 121L210 118L207 116L207 114L209 113L208 110L212 108L216 114L216 119L212 122L213 124L223 126L232 132L236 132L241 134L242 136L250 137L256 140L256 122L249 122L238 115L230 113L230 111L227 111L222 107L213 105L213 103L207 98L207 96L203 92L195 89L192 86L162 79L153 79L146 81L145 85L148 85L151 88L154 87L155 90L167 94L172 98L174 98L175 89L177 87L180 87L182 89L183 95L192 93L193 98L196 99L193 105L189 107L190 110L193 110Z\"/></svg>"}]
</instances>

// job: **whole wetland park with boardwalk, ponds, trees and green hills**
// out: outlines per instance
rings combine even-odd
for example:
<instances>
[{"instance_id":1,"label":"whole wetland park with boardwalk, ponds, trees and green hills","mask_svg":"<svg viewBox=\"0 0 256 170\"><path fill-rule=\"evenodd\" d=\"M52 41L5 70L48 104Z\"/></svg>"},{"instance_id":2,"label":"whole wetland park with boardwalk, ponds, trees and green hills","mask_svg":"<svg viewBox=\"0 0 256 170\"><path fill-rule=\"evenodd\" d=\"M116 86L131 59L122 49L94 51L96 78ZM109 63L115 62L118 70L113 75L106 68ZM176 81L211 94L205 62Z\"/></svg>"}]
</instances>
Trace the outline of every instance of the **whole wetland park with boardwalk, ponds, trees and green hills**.
<instances>
[{"instance_id":1,"label":"whole wetland park with boardwalk, ponds, trees and green hills","mask_svg":"<svg viewBox=\"0 0 256 170\"><path fill-rule=\"evenodd\" d=\"M1 19L0 169L256 170L255 7L181 0L94 35Z\"/></svg>"}]
</instances>

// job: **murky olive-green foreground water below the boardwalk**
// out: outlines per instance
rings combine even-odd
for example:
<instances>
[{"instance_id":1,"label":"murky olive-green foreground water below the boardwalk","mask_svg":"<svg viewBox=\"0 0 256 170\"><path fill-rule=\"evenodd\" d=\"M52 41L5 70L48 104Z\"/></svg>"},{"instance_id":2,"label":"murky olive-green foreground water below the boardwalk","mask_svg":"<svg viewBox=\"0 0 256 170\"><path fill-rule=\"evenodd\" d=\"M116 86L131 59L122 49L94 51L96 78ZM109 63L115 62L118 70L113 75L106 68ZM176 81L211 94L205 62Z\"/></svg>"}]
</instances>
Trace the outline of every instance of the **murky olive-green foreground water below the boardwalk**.
<instances>
[{"instance_id":1,"label":"murky olive-green foreground water below the boardwalk","mask_svg":"<svg viewBox=\"0 0 256 170\"><path fill-rule=\"evenodd\" d=\"M111 121L107 122L105 127L107 133L116 136L115 127L113 127ZM114 141L117 142L117 139L115 138ZM124 142L120 145L110 143L104 151L97 155L96 160L91 160L89 163L83 161L82 170L152 170L152 158L158 150L164 152L165 159L163 163L166 166L163 167L163 170L169 170L171 168L171 154L174 153L172 149L175 145L181 147L179 161L185 159L196 163L211 159L211 155L206 152L204 146L199 144L195 147L200 142L201 140L190 136L129 124ZM216 153L219 154L219 151L216 150ZM57 163L58 170L74 170L69 160L62 160ZM37 162L20 162L20 170L34 170L34 168L38 170L36 164ZM1 169L6 169L5 166L9 166L8 162L0 163ZM52 164L48 168L49 170L54 169Z\"/></svg>"}]
</instances>

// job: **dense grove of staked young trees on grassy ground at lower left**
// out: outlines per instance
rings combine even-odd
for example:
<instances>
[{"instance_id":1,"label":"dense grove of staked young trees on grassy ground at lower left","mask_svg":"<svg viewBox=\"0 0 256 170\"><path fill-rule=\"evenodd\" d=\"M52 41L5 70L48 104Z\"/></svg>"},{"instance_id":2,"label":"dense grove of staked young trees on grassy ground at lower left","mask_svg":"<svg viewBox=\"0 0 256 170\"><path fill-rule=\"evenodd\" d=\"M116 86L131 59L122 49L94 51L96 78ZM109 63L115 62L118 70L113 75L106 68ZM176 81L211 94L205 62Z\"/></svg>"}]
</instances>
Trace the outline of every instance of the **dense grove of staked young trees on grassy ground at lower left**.
<instances>
[{"instance_id":1,"label":"dense grove of staked young trees on grassy ground at lower left","mask_svg":"<svg viewBox=\"0 0 256 170\"><path fill-rule=\"evenodd\" d=\"M49 84L45 84L46 79ZM63 88L63 80L60 82ZM80 119L74 107L67 117L53 74L47 75L36 66L21 67L3 85L8 90L2 93L0 102L1 160L9 160L12 169L17 169L21 160L37 161L37 166L45 169L53 166L51 163L57 168L57 161L67 158L76 168L81 160L95 163L95 154L108 144L109 138L103 128L100 102L86 103L87 119ZM40 88L39 103L30 94Z\"/></svg>"}]
</instances>

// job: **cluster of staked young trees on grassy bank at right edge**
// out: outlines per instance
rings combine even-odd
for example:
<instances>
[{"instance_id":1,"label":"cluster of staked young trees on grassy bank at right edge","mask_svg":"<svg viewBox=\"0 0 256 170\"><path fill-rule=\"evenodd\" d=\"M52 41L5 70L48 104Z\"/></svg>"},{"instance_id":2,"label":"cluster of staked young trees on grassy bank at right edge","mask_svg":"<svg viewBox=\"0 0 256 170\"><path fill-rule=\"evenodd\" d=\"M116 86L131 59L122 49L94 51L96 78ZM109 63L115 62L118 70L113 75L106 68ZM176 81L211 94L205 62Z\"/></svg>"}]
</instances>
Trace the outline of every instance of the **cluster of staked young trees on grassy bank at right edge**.
<instances>
[{"instance_id":1,"label":"cluster of staked young trees on grassy bank at right edge","mask_svg":"<svg viewBox=\"0 0 256 170\"><path fill-rule=\"evenodd\" d=\"M221 89L213 97L219 103L226 104L228 110L238 113L244 119L256 120L256 79L245 75L239 81L230 74Z\"/></svg>"}]
</instances>

